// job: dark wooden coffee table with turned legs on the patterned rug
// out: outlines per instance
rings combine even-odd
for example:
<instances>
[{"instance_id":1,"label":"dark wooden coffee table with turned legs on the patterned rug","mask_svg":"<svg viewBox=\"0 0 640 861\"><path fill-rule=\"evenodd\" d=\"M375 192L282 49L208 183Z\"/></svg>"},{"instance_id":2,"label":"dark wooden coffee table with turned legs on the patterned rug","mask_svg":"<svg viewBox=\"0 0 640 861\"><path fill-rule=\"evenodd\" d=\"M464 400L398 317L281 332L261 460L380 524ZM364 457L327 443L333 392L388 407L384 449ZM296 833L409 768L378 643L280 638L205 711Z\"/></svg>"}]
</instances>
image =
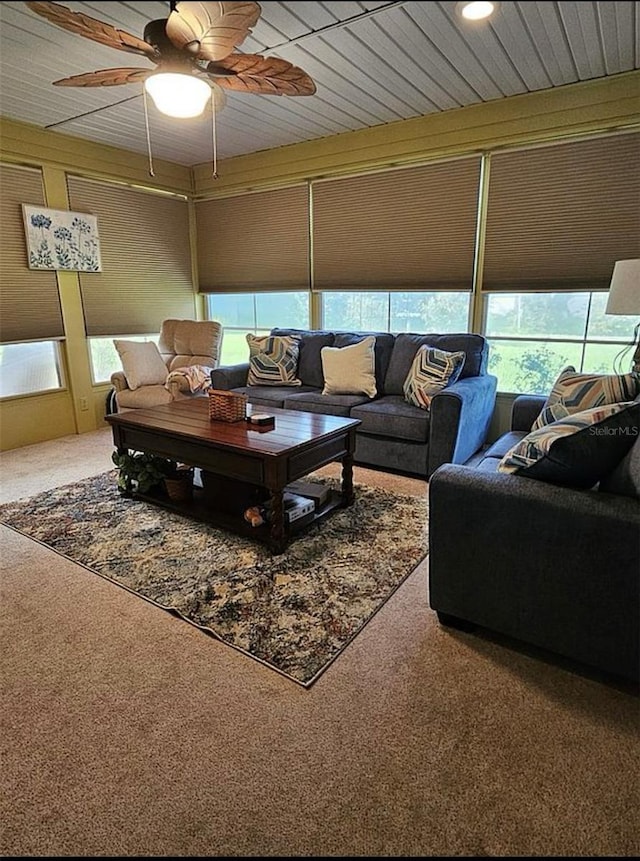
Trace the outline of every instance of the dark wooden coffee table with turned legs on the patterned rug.
<instances>
[{"instance_id":1,"label":"dark wooden coffee table with turned legs on the patterned rug","mask_svg":"<svg viewBox=\"0 0 640 861\"><path fill-rule=\"evenodd\" d=\"M251 405L248 411L251 412ZM270 498L268 525L251 527L242 514L216 508L197 489L193 500L177 503L168 496L139 494L167 508L206 520L265 541L273 553L282 553L296 524L285 522L286 486L331 461L342 462L340 492L315 513L314 522L338 507L351 505L355 431L360 421L319 413L255 407L254 412L275 416L272 428L247 422L221 422L209 418L208 398L174 401L152 409L127 410L105 416L112 425L113 442L120 453L144 451L199 467L223 479L264 488Z\"/></svg>"}]
</instances>

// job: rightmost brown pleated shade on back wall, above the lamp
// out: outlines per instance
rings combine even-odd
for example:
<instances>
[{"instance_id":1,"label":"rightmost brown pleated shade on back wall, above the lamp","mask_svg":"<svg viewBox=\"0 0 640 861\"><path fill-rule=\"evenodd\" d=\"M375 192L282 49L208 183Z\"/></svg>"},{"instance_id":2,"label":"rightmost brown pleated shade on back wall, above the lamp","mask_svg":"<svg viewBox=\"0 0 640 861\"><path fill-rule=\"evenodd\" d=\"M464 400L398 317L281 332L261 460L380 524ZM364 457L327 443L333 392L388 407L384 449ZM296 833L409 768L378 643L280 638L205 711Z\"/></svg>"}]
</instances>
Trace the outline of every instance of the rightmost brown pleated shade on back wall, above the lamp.
<instances>
[{"instance_id":1,"label":"rightmost brown pleated shade on back wall, above the lamp","mask_svg":"<svg viewBox=\"0 0 640 861\"><path fill-rule=\"evenodd\" d=\"M608 288L640 257L640 134L492 155L484 290Z\"/></svg>"}]
</instances>

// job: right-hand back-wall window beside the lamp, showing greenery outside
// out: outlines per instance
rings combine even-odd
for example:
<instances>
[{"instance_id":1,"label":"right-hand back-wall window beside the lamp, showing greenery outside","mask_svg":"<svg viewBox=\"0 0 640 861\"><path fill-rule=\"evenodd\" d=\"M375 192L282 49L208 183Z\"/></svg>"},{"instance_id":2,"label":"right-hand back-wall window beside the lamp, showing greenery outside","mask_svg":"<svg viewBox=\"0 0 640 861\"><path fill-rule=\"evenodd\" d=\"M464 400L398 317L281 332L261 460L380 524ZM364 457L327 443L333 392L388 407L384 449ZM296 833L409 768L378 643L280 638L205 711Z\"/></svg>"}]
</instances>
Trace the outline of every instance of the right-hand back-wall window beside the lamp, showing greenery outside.
<instances>
[{"instance_id":1,"label":"right-hand back-wall window beside the lamp, showing greenery outside","mask_svg":"<svg viewBox=\"0 0 640 861\"><path fill-rule=\"evenodd\" d=\"M547 394L566 365L613 373L636 320L605 314L607 297L605 292L488 295L489 373L498 377L498 390Z\"/></svg>"}]
</instances>

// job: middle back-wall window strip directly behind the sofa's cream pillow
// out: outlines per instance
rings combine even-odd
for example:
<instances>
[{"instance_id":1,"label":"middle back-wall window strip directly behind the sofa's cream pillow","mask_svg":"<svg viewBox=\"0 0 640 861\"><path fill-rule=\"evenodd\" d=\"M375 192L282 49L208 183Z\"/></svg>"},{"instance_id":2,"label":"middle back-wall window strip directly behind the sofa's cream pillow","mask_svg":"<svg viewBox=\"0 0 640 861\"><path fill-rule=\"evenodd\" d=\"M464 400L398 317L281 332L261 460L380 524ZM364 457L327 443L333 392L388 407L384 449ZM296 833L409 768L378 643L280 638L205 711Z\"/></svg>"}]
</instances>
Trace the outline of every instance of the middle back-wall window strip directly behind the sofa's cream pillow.
<instances>
[{"instance_id":1,"label":"middle back-wall window strip directly behind the sofa's cream pillow","mask_svg":"<svg viewBox=\"0 0 640 861\"><path fill-rule=\"evenodd\" d=\"M467 332L470 297L445 291L325 291L323 326L355 332Z\"/></svg>"}]
</instances>

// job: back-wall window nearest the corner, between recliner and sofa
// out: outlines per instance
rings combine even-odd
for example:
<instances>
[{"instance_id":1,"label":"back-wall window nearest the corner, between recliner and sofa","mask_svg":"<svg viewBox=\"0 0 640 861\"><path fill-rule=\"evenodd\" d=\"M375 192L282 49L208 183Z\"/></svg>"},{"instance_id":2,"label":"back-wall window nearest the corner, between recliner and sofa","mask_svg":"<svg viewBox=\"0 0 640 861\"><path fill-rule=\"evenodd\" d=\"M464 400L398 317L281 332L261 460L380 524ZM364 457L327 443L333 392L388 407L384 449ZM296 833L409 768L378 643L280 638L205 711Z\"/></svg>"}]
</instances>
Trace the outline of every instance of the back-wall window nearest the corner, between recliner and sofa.
<instances>
[{"instance_id":1,"label":"back-wall window nearest the corner, between recliner and sofa","mask_svg":"<svg viewBox=\"0 0 640 861\"><path fill-rule=\"evenodd\" d=\"M209 293L207 316L222 324L221 365L249 361L246 335L271 329L309 328L308 291L291 293Z\"/></svg>"}]
</instances>

